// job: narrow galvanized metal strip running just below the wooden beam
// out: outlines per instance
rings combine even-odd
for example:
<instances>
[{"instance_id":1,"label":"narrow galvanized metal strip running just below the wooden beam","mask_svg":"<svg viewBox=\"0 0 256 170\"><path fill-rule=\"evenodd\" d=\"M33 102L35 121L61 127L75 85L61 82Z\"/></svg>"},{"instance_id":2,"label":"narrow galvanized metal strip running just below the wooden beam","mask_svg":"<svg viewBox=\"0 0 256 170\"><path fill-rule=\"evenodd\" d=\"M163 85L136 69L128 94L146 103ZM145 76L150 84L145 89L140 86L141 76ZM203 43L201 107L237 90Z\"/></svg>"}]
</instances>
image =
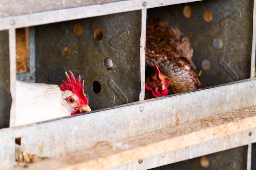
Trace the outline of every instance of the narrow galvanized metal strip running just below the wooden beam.
<instances>
[{"instance_id":1,"label":"narrow galvanized metal strip running just below the wooden beam","mask_svg":"<svg viewBox=\"0 0 256 170\"><path fill-rule=\"evenodd\" d=\"M212 139L202 142L200 144L194 144L188 147L165 152L159 155L154 155L152 157L141 158L143 160L143 163L141 164L139 164L138 160L136 160L115 168L110 168L108 170L148 170L171 163L176 163L204 155L213 154L216 152L221 152L223 150L245 146L247 144L250 145L251 143L256 142L256 135L249 136L250 133L256 134L256 128L244 130L242 132L234 133L231 135L226 135L224 137L219 137L217 139ZM250 163L251 162L248 162L247 160L247 167ZM251 170L251 168L247 168L247 170Z\"/></svg>"}]
</instances>

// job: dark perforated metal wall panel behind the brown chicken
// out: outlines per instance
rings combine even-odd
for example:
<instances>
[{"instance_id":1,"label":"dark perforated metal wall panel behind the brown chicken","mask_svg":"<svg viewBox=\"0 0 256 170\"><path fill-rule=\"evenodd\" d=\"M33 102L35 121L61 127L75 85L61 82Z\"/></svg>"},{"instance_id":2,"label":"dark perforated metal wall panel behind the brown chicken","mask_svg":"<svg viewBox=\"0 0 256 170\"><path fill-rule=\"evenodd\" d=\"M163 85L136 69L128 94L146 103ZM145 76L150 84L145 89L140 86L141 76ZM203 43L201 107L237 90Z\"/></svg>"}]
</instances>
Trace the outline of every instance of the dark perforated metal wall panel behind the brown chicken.
<instances>
[{"instance_id":1,"label":"dark perforated metal wall panel behind the brown chicken","mask_svg":"<svg viewBox=\"0 0 256 170\"><path fill-rule=\"evenodd\" d=\"M190 18L183 14L186 5ZM206 0L149 9L148 15L166 20L191 39L193 62L207 87L250 77L253 7L253 0ZM204 20L206 10L213 15L211 22Z\"/></svg>"}]
</instances>

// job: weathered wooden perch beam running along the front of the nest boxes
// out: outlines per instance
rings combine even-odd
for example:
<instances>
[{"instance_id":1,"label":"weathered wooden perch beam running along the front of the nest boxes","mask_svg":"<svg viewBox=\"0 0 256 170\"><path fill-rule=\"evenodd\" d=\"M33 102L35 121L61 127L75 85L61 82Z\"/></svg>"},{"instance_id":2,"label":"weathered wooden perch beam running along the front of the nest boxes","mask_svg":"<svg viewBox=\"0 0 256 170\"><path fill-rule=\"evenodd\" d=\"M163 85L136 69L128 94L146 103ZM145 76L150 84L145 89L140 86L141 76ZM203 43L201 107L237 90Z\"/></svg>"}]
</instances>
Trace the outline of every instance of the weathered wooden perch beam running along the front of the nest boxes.
<instances>
[{"instance_id":1,"label":"weathered wooden perch beam running along the front of the nest boxes","mask_svg":"<svg viewBox=\"0 0 256 170\"><path fill-rule=\"evenodd\" d=\"M28 164L25 169L103 170L255 127L256 106L251 106L120 141L99 141L93 148Z\"/></svg>"}]
</instances>

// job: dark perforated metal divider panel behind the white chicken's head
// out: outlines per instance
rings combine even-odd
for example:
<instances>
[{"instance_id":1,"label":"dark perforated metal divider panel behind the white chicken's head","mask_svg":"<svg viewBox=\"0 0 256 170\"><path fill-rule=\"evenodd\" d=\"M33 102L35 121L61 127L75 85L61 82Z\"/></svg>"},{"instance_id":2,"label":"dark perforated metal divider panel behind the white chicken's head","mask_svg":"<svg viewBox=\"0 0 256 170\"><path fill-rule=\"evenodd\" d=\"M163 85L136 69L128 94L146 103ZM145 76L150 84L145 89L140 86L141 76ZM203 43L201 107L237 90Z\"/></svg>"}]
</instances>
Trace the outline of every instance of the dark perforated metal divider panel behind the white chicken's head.
<instances>
[{"instance_id":1,"label":"dark perforated metal divider panel behind the white chicken's head","mask_svg":"<svg viewBox=\"0 0 256 170\"><path fill-rule=\"evenodd\" d=\"M76 23L81 35L74 32ZM97 28L102 40L96 39L97 32L94 37ZM61 84L64 72L71 70L85 79L92 110L139 101L140 34L141 11L36 26L36 82ZM65 47L70 59L63 57ZM104 65L106 58L112 69Z\"/></svg>"}]
</instances>

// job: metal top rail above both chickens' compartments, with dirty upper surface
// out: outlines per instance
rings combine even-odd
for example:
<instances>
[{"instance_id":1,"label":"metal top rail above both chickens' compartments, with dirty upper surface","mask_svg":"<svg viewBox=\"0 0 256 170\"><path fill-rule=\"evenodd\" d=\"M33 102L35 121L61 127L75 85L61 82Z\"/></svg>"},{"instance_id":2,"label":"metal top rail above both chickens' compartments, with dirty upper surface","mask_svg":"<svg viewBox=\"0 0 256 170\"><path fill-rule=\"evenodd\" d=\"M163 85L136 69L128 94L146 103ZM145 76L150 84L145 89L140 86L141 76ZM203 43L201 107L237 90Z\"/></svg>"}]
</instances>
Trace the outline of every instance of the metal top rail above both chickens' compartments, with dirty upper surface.
<instances>
[{"instance_id":1,"label":"metal top rail above both chickens' compartments, with dirty upper surface","mask_svg":"<svg viewBox=\"0 0 256 170\"><path fill-rule=\"evenodd\" d=\"M24 3L31 3L23 0ZM34 0L35 1L35 0ZM117 2L109 2L109 3L102 3L102 4L92 4L87 6L82 6L83 3L81 2L81 6L74 7L72 5L65 7L63 9L63 5L59 4L56 6L56 9L52 11L45 11L50 10L49 7L44 7L43 4L36 5L37 8L35 9L26 9L23 8L25 11L21 11L19 5L13 5L12 3L9 4L1 4L1 9L10 9L9 11L17 11L14 14L5 13L4 15L0 15L0 31L11 29L11 28L21 28L25 26L36 26L40 24L48 24L53 22L61 22L67 20L75 20L81 18L88 18L100 15L108 15L113 13L121 13L127 11L135 11L141 9L148 9L154 7L161 7L167 6L172 4L180 4L186 2L195 2L198 0L124 0L124 1L117 1ZM36 1L37 2L37 1ZM44 1L38 1L37 3L43 3ZM104 1L102 1L104 2ZM145 4L146 2L146 4ZM65 3L72 2L68 1ZM47 3L49 4L49 3ZM91 3L90 3L91 4ZM6 7L4 6L6 5ZM55 5L55 4L54 4ZM31 6L31 5L30 5ZM49 6L49 5L48 5ZM33 7L33 6L31 6ZM39 7L39 8L38 8ZM73 7L73 8L72 8ZM14 9L13 9L14 8ZM17 9L15 9L17 8ZM26 11L31 11L31 13L27 13Z\"/></svg>"}]
</instances>

